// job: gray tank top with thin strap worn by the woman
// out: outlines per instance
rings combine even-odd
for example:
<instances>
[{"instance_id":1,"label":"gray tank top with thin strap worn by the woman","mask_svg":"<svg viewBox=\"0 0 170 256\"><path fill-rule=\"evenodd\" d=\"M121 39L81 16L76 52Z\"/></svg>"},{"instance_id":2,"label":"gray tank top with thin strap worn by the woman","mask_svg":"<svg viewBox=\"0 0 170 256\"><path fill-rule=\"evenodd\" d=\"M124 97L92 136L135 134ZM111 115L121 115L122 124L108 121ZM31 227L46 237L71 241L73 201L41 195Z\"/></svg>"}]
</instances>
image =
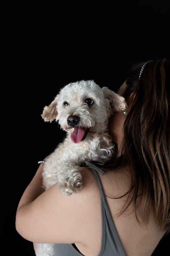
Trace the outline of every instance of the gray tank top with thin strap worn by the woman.
<instances>
[{"instance_id":1,"label":"gray tank top with thin strap worn by the woman","mask_svg":"<svg viewBox=\"0 0 170 256\"><path fill-rule=\"evenodd\" d=\"M126 256L116 231L112 215L105 199L98 173L104 174L93 163L84 161L82 166L90 167L94 174L101 194L102 240L98 256ZM54 256L82 256L75 244L54 244Z\"/></svg>"}]
</instances>

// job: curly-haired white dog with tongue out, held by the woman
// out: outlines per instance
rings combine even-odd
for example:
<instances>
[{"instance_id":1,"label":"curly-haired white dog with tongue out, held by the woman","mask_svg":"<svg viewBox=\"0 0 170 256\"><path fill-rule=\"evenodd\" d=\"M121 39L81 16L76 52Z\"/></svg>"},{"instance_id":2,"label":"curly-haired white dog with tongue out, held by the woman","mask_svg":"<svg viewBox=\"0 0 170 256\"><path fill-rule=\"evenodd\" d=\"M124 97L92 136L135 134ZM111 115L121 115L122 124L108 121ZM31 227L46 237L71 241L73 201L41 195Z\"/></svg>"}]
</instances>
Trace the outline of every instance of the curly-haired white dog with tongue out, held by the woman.
<instances>
[{"instance_id":1,"label":"curly-haired white dog with tongue out, held by the woman","mask_svg":"<svg viewBox=\"0 0 170 256\"><path fill-rule=\"evenodd\" d=\"M93 80L78 81L63 87L41 115L46 122L54 119L66 131L44 164L45 189L56 183L58 190L72 195L82 188L80 165L84 160L109 160L114 143L108 134L108 119L114 111L124 111L125 99ZM53 244L38 244L36 256L54 255Z\"/></svg>"}]
</instances>

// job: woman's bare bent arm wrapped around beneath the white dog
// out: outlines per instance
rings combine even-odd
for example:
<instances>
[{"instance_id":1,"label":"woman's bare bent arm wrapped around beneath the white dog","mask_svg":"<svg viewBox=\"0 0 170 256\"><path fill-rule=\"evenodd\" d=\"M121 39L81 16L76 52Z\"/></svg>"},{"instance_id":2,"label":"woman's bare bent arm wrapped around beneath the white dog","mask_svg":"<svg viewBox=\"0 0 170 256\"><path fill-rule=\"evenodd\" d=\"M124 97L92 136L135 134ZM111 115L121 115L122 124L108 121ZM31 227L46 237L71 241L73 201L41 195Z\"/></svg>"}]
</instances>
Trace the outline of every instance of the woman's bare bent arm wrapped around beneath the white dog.
<instances>
[{"instance_id":1,"label":"woman's bare bent arm wrapped around beneath the white dog","mask_svg":"<svg viewBox=\"0 0 170 256\"><path fill-rule=\"evenodd\" d=\"M17 232L34 243L82 243L86 234L81 230L87 229L85 220L90 223L96 204L97 196L92 196L94 189L99 197L100 212L100 193L94 175L89 169L82 168L83 188L75 195L65 196L56 184L44 191L42 171L43 163L20 199L16 212ZM99 215L96 221L100 218ZM90 229L93 225L90 223Z\"/></svg>"}]
</instances>

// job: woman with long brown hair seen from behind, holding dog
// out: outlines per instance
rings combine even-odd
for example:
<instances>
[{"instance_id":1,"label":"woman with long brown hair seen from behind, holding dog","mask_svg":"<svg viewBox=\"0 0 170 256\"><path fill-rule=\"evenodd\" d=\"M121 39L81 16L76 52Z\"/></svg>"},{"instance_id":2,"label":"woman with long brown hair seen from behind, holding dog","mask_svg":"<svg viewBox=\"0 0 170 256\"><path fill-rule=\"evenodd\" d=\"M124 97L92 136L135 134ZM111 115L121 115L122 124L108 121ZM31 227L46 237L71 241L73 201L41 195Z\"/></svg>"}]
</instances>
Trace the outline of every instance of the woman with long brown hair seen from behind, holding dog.
<instances>
[{"instance_id":1,"label":"woman with long brown hair seen from behind, holding dog","mask_svg":"<svg viewBox=\"0 0 170 256\"><path fill-rule=\"evenodd\" d=\"M109 122L116 163L100 167L101 175L87 162L84 186L70 197L55 185L44 191L41 163L16 213L23 238L54 243L59 256L150 256L170 230L170 67L161 59L134 70L119 89L127 110ZM132 81L137 86L129 95Z\"/></svg>"}]
</instances>

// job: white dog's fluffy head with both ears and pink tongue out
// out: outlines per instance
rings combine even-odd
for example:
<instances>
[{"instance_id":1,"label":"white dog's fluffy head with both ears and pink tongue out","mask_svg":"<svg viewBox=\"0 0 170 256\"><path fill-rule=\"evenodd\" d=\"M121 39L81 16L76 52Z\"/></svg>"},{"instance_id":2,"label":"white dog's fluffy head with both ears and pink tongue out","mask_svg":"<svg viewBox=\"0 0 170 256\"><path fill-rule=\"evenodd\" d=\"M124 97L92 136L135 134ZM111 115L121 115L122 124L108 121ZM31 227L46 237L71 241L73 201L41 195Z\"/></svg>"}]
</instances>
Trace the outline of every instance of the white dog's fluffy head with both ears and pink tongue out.
<instances>
[{"instance_id":1,"label":"white dog's fluffy head with both ears and pink tongue out","mask_svg":"<svg viewBox=\"0 0 170 256\"><path fill-rule=\"evenodd\" d=\"M107 129L113 111L125 108L124 98L98 86L93 80L70 83L60 90L41 115L46 122L53 119L79 143L87 134L101 133Z\"/></svg>"}]
</instances>

